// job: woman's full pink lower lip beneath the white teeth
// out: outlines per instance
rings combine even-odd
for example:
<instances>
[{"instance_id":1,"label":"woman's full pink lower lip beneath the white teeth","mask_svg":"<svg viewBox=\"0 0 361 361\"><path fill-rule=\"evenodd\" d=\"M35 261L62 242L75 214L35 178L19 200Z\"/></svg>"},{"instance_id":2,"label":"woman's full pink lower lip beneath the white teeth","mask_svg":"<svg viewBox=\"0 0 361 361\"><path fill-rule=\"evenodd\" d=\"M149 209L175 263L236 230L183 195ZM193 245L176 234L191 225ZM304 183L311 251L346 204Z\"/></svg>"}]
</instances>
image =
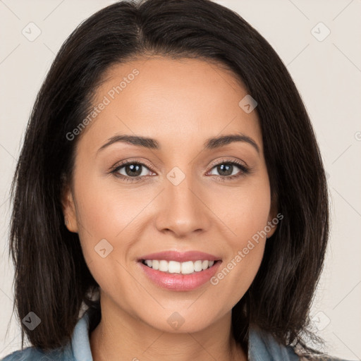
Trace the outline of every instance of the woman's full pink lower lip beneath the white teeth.
<instances>
[{"instance_id":1,"label":"woman's full pink lower lip beneath the white teeth","mask_svg":"<svg viewBox=\"0 0 361 361\"><path fill-rule=\"evenodd\" d=\"M221 261L215 262L213 266L208 269L192 274L168 274L166 272L158 271L157 269L152 269L142 262L138 263L148 278L157 286L169 290L183 291L194 290L195 288L204 285L204 283L207 283L207 281L214 276L217 269L219 269Z\"/></svg>"}]
</instances>

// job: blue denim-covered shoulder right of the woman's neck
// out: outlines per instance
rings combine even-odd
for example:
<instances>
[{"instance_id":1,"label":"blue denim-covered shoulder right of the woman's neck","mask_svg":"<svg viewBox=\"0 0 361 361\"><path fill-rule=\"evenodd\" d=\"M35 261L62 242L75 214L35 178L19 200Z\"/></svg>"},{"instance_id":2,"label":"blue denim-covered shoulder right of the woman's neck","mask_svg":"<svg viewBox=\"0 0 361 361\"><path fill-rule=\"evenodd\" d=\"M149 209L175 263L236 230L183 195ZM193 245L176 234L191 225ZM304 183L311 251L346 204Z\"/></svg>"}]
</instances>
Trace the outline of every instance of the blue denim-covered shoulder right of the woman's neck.
<instances>
[{"instance_id":1,"label":"blue denim-covered shoulder right of the woman's neck","mask_svg":"<svg viewBox=\"0 0 361 361\"><path fill-rule=\"evenodd\" d=\"M258 329L250 328L248 357L250 361L282 360L282 361L347 361L336 357L307 358L298 355L290 346L281 345L271 334Z\"/></svg>"}]
</instances>

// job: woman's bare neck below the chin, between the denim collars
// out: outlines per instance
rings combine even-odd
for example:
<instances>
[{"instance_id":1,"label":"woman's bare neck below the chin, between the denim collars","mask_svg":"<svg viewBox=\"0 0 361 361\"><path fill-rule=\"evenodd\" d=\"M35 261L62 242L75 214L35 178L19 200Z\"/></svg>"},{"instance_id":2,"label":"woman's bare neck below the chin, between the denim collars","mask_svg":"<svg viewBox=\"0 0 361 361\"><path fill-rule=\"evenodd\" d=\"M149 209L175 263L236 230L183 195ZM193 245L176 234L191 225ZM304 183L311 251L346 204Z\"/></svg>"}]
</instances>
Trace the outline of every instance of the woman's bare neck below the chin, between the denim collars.
<instances>
[{"instance_id":1,"label":"woman's bare neck below the chin, between the denim collars","mask_svg":"<svg viewBox=\"0 0 361 361\"><path fill-rule=\"evenodd\" d=\"M90 335L94 361L246 361L231 334L231 312L194 333L154 329L101 298L102 319ZM121 357L121 358L120 358Z\"/></svg>"}]
</instances>

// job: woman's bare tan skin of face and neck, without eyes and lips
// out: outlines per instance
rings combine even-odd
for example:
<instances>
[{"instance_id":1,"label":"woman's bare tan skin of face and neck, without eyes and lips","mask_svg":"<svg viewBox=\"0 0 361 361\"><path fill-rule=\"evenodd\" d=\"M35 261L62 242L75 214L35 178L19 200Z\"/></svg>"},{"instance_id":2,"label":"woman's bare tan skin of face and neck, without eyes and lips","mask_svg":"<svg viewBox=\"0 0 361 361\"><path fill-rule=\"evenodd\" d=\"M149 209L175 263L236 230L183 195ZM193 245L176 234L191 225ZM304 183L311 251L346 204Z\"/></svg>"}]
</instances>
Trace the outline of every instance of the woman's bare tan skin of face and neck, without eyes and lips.
<instances>
[{"instance_id":1,"label":"woman's bare tan skin of face and neck, without eyes and lips","mask_svg":"<svg viewBox=\"0 0 361 361\"><path fill-rule=\"evenodd\" d=\"M93 358L247 360L247 350L231 336L231 310L255 278L266 237L216 286L207 282L191 291L155 286L137 259L200 250L219 256L221 270L274 219L256 111L246 114L238 105L247 91L231 71L200 59L164 57L113 66L94 104L134 68L139 75L82 131L73 181L63 196L67 227L79 234L101 288L102 321L90 335ZM209 137L239 133L251 137L259 152L248 142L203 149ZM121 134L152 137L161 149L115 142L97 152ZM125 159L146 162L138 181L110 173ZM227 161L252 170L243 174L233 166L230 173L240 176L226 179L216 165ZM166 177L175 166L185 175L178 185ZM127 168L118 174L130 178ZM102 258L94 247L104 238L113 250ZM167 322L173 312L184 320L178 329Z\"/></svg>"}]
</instances>

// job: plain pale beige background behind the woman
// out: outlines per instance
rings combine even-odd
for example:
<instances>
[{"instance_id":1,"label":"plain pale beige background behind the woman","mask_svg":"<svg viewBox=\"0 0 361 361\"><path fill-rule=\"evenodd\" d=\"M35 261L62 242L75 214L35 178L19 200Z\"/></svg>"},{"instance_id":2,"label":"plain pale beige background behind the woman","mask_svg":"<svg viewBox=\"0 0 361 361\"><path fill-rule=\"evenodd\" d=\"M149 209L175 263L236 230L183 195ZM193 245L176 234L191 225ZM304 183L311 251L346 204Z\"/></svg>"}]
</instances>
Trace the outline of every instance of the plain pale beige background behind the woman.
<instances>
[{"instance_id":1,"label":"plain pale beige background behind the woman","mask_svg":"<svg viewBox=\"0 0 361 361\"><path fill-rule=\"evenodd\" d=\"M11 317L8 194L27 118L63 41L80 21L111 2L0 0L0 357L20 348L16 317ZM327 351L360 360L361 1L218 2L240 13L270 42L312 118L329 176L332 213L326 267L312 306L314 327ZM30 22L41 30L33 42L22 34Z\"/></svg>"}]
</instances>

